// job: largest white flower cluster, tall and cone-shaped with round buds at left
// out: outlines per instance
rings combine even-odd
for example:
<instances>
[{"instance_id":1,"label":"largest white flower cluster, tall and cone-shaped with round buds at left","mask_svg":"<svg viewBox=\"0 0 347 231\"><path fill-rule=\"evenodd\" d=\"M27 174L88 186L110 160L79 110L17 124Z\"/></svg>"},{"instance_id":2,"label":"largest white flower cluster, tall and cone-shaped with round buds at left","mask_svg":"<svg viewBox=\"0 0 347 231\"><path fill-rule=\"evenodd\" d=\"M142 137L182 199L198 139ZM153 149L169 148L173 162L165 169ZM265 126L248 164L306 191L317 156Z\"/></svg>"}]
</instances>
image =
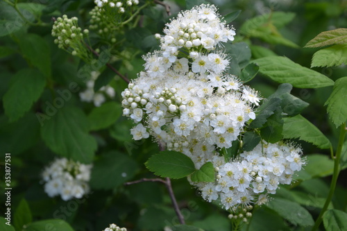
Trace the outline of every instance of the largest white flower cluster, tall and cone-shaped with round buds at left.
<instances>
[{"instance_id":1,"label":"largest white flower cluster, tall and cone-shaped with round buds at left","mask_svg":"<svg viewBox=\"0 0 347 231\"><path fill-rule=\"evenodd\" d=\"M224 53L212 53L203 43L187 48L188 53L181 51L181 31L191 33L194 28L201 39L210 36L213 47L225 41L214 36L217 29L221 37L233 32L217 17L214 6L201 5L178 15L164 30L169 35L162 40L162 50L144 57L146 71L122 92L122 105L124 115L137 123L131 130L134 139L152 135L169 150L192 157L199 168L214 155L215 146L229 148L246 122L255 119L253 105L260 99L236 76L223 74L229 63Z\"/></svg>"}]
</instances>

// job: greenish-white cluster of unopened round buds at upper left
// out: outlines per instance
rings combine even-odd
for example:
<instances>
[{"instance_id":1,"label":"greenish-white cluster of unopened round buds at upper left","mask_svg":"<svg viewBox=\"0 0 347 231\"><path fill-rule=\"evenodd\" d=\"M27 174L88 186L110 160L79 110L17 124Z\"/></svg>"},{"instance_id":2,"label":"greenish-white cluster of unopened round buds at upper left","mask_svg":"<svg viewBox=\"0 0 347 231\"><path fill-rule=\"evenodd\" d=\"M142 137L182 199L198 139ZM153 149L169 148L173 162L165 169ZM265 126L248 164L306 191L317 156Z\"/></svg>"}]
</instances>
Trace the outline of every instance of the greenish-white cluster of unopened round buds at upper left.
<instances>
[{"instance_id":1,"label":"greenish-white cluster of unopened round buds at upper left","mask_svg":"<svg viewBox=\"0 0 347 231\"><path fill-rule=\"evenodd\" d=\"M87 29L82 32L77 17L69 19L67 15L62 15L54 22L51 35L57 37L54 43L58 44L58 48L65 49L72 55L87 58L88 52L83 44L83 38L87 37L88 33Z\"/></svg>"}]
</instances>

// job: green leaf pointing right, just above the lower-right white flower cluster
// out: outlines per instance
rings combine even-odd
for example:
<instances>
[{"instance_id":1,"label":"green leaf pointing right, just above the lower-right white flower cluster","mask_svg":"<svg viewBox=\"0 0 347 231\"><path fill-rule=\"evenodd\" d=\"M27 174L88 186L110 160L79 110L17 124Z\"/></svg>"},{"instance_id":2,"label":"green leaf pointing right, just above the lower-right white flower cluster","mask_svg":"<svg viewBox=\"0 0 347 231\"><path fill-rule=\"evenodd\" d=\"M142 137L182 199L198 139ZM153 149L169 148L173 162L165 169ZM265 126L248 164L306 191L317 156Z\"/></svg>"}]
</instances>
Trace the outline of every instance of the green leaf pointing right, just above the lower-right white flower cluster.
<instances>
[{"instance_id":1,"label":"green leaf pointing right, just above the lower-right white flower cluster","mask_svg":"<svg viewBox=\"0 0 347 231\"><path fill-rule=\"evenodd\" d=\"M283 118L283 136L285 139L299 138L310 142L321 149L330 148L330 141L323 133L301 114Z\"/></svg>"}]
</instances>

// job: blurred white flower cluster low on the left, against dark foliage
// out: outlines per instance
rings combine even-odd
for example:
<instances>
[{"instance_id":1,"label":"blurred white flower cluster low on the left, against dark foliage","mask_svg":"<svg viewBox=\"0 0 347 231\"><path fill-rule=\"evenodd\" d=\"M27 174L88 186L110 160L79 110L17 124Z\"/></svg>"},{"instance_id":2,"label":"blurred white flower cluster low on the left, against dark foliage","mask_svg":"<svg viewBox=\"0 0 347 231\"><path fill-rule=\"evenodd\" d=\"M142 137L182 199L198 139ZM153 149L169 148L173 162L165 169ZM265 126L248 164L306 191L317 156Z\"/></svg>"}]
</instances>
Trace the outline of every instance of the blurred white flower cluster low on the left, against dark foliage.
<instances>
[{"instance_id":1,"label":"blurred white flower cluster low on the left, against dark foliage","mask_svg":"<svg viewBox=\"0 0 347 231\"><path fill-rule=\"evenodd\" d=\"M66 158L57 159L42 173L44 191L50 197L60 195L62 200L82 198L90 191L87 182L90 180L91 169L90 164L81 164Z\"/></svg>"}]
</instances>

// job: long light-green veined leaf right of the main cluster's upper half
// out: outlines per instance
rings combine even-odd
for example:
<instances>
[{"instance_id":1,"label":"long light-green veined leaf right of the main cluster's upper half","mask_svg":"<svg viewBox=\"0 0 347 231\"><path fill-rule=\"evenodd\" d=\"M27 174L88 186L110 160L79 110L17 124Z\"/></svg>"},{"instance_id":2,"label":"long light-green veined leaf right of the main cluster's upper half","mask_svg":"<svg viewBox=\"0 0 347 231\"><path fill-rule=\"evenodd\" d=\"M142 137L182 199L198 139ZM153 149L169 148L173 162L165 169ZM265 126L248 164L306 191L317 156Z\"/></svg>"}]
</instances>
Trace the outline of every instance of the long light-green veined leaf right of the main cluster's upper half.
<instances>
[{"instance_id":1,"label":"long light-green veined leaf right of the main cluster's upper half","mask_svg":"<svg viewBox=\"0 0 347 231\"><path fill-rule=\"evenodd\" d=\"M278 83L290 83L299 88L318 88L334 85L334 81L323 74L298 65L282 56L268 56L253 60L260 73Z\"/></svg>"}]
</instances>

